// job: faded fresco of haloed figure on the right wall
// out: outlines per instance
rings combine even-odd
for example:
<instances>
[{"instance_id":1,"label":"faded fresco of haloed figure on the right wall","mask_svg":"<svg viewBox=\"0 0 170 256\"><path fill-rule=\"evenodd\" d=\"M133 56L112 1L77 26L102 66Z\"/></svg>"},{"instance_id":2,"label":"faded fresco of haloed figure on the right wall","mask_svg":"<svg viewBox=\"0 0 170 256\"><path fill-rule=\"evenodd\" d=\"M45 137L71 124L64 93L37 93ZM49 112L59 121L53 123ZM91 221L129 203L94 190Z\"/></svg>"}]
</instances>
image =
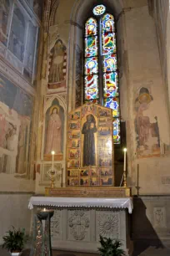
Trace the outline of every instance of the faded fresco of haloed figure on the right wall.
<instances>
[{"instance_id":1,"label":"faded fresco of haloed figure on the right wall","mask_svg":"<svg viewBox=\"0 0 170 256\"><path fill-rule=\"evenodd\" d=\"M158 117L152 109L153 96L142 87L135 100L135 129L137 134L137 157L160 156Z\"/></svg>"}]
</instances>

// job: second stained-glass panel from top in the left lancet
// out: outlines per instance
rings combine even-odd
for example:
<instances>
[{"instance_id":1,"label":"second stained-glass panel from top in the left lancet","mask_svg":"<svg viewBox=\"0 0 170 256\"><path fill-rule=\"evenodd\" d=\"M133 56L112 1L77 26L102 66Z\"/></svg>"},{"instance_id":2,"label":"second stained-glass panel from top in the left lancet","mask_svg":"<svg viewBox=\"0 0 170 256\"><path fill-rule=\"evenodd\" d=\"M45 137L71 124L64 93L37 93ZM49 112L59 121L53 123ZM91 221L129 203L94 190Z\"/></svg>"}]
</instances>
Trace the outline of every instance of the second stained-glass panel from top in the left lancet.
<instances>
[{"instance_id":1,"label":"second stained-glass panel from top in the left lancet","mask_svg":"<svg viewBox=\"0 0 170 256\"><path fill-rule=\"evenodd\" d=\"M85 38L85 57L97 56L97 36Z\"/></svg>"}]
</instances>

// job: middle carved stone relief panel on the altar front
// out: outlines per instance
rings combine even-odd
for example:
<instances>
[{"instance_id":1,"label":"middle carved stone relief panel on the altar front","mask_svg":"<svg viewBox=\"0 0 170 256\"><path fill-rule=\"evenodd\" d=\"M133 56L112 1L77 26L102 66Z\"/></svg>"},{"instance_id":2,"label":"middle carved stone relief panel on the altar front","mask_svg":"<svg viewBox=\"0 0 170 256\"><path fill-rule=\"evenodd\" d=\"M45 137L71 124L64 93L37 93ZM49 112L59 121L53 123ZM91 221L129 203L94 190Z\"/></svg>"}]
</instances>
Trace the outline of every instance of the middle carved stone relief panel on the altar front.
<instances>
[{"instance_id":1,"label":"middle carved stone relief panel on the altar front","mask_svg":"<svg viewBox=\"0 0 170 256\"><path fill-rule=\"evenodd\" d=\"M67 239L90 242L90 211L68 211Z\"/></svg>"}]
</instances>

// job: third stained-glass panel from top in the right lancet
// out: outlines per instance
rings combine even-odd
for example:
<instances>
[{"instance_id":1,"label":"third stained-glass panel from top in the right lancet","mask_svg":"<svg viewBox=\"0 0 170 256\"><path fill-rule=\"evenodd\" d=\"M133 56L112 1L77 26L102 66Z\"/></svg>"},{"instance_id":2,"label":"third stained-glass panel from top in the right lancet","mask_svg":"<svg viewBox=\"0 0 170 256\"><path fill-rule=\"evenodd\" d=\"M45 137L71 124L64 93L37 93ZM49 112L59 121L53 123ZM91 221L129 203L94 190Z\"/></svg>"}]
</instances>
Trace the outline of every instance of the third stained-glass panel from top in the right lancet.
<instances>
[{"instance_id":1,"label":"third stained-glass panel from top in the right lancet","mask_svg":"<svg viewBox=\"0 0 170 256\"><path fill-rule=\"evenodd\" d=\"M117 54L103 56L103 71L112 72L117 70Z\"/></svg>"}]
</instances>

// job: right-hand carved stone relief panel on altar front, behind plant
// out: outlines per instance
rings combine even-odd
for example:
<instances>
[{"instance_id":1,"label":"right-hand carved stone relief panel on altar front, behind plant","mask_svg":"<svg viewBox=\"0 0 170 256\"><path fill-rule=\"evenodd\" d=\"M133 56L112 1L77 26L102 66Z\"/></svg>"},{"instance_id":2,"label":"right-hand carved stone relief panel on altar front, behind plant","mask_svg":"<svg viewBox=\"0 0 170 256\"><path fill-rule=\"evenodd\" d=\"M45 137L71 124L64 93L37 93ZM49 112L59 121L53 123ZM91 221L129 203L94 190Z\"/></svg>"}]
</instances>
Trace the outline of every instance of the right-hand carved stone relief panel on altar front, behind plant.
<instances>
[{"instance_id":1,"label":"right-hand carved stone relief panel on altar front, behind plant","mask_svg":"<svg viewBox=\"0 0 170 256\"><path fill-rule=\"evenodd\" d=\"M120 212L96 211L97 241L102 237L120 238Z\"/></svg>"}]
</instances>

